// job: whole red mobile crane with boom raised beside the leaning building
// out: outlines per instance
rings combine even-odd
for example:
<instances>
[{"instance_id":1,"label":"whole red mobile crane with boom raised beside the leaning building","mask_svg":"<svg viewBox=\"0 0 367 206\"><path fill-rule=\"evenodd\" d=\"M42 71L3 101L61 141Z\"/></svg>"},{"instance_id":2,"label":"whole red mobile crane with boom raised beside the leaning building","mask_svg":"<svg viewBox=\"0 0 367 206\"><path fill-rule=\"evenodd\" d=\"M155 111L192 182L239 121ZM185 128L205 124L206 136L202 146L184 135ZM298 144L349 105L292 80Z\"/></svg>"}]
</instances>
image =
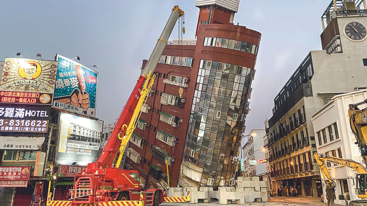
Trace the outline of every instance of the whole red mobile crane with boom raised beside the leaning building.
<instances>
[{"instance_id":1,"label":"whole red mobile crane with boom raised beside the leaning building","mask_svg":"<svg viewBox=\"0 0 367 206\"><path fill-rule=\"evenodd\" d=\"M178 5L172 8L170 18L117 119L101 156L97 162L89 163L82 174L75 176L74 187L69 191L71 197L69 200L73 206L108 205L110 201L139 201L141 192L146 197L147 206L158 206L163 201L163 194L159 189L142 191L136 170L123 170L119 166L132 131L137 125L141 107L153 85L155 67L175 23L183 14Z\"/></svg>"}]
</instances>

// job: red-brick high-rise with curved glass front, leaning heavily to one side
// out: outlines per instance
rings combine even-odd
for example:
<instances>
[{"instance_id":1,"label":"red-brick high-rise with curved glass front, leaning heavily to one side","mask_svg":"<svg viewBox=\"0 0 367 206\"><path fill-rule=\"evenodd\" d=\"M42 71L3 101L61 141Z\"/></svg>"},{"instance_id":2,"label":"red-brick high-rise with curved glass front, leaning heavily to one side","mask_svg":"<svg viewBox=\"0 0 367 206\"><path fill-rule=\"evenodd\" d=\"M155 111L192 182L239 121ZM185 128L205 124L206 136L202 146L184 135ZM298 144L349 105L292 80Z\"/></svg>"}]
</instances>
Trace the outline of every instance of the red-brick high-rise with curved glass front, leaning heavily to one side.
<instances>
[{"instance_id":1,"label":"red-brick high-rise with curved glass front, leaning heavily to one side","mask_svg":"<svg viewBox=\"0 0 367 206\"><path fill-rule=\"evenodd\" d=\"M235 183L261 38L233 24L238 5L197 0L196 38L166 45L125 164L146 186L166 187L167 178L171 187Z\"/></svg>"}]
</instances>

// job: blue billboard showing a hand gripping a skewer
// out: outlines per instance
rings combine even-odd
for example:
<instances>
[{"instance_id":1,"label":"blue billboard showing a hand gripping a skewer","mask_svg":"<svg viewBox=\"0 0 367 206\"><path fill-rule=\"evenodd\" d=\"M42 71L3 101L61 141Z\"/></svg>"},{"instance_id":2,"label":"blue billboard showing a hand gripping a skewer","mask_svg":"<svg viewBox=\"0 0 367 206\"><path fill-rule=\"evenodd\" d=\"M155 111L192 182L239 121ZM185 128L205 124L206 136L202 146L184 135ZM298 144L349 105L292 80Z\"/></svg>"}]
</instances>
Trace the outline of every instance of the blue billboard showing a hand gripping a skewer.
<instances>
[{"instance_id":1,"label":"blue billboard showing a hand gripping a skewer","mask_svg":"<svg viewBox=\"0 0 367 206\"><path fill-rule=\"evenodd\" d=\"M98 72L61 55L58 61L54 101L82 108L95 117Z\"/></svg>"}]
</instances>

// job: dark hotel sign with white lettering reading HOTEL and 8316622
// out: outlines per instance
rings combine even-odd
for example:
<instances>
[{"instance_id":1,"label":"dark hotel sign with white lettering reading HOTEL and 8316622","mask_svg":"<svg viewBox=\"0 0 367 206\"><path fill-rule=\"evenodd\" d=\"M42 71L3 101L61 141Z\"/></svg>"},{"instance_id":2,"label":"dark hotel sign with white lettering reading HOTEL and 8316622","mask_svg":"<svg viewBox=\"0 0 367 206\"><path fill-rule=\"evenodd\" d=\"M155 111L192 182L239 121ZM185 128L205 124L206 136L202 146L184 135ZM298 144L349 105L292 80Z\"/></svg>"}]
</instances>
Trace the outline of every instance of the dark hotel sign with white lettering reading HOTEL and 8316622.
<instances>
[{"instance_id":1,"label":"dark hotel sign with white lettering reading HOTEL and 8316622","mask_svg":"<svg viewBox=\"0 0 367 206\"><path fill-rule=\"evenodd\" d=\"M47 132L50 108L0 107L0 132Z\"/></svg>"}]
</instances>

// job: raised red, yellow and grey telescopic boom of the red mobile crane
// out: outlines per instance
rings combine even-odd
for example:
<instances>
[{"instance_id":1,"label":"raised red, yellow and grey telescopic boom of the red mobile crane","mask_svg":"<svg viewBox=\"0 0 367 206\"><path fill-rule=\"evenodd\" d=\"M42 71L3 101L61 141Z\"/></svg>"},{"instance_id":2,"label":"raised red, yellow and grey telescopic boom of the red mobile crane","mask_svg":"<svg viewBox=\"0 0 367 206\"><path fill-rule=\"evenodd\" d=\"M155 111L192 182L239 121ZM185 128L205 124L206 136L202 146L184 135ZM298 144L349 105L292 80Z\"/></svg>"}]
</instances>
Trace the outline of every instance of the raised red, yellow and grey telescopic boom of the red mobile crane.
<instances>
[{"instance_id":1,"label":"raised red, yellow and grey telescopic boom of the red mobile crane","mask_svg":"<svg viewBox=\"0 0 367 206\"><path fill-rule=\"evenodd\" d=\"M130 139L132 131L135 129L137 118L139 118L141 106L145 102L146 96L149 93L148 91L153 84L155 67L158 64L177 19L182 15L183 11L178 5L175 5L148 62L142 70L137 84L116 121L105 148L103 148L97 162L88 164L88 169L111 168L114 167L113 162L116 162L116 166L120 165L121 155L126 149L126 144ZM116 161L117 154L119 154L119 157Z\"/></svg>"}]
</instances>

